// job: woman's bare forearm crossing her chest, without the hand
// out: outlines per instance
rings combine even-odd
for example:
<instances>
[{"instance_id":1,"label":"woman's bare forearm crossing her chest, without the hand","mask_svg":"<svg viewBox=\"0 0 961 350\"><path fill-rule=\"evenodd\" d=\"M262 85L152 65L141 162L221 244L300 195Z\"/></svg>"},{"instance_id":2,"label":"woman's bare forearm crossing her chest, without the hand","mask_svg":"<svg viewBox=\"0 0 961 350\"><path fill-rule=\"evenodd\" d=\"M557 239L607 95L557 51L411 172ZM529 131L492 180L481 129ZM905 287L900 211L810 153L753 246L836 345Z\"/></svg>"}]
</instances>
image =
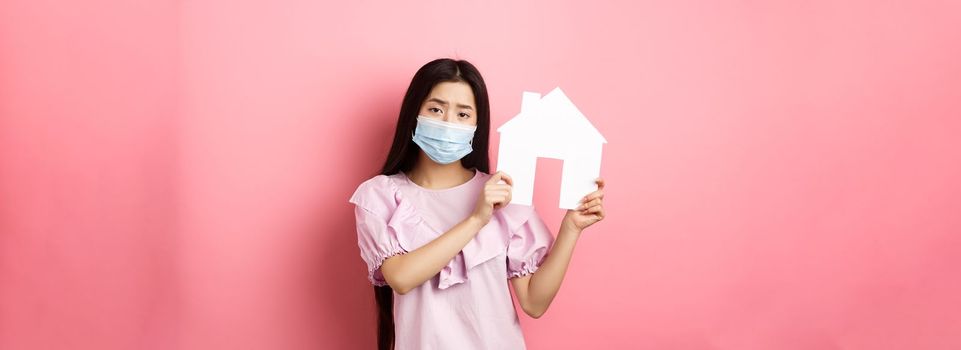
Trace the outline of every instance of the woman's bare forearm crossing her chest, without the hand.
<instances>
[{"instance_id":1,"label":"woman's bare forearm crossing her chest, without the hand","mask_svg":"<svg viewBox=\"0 0 961 350\"><path fill-rule=\"evenodd\" d=\"M406 294L447 266L485 224L482 219L469 216L424 246L387 258L380 268L384 279L394 291Z\"/></svg>"}]
</instances>

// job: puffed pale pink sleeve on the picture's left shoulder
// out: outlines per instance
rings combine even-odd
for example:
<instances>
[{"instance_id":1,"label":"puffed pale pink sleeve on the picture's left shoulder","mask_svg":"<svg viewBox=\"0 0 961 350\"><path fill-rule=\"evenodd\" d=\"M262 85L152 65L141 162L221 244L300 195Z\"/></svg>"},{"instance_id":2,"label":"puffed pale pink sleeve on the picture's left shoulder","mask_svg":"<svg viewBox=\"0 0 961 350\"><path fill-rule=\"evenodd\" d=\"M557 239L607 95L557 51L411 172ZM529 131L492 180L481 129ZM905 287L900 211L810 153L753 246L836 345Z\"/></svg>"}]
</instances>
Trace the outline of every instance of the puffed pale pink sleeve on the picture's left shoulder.
<instances>
[{"instance_id":1,"label":"puffed pale pink sleeve on the picture's left shoulder","mask_svg":"<svg viewBox=\"0 0 961 350\"><path fill-rule=\"evenodd\" d=\"M360 257L367 263L367 278L375 286L387 285L380 271L384 260L409 252L404 243L411 223L398 213L396 192L387 176L378 175L360 184L349 200L356 205Z\"/></svg>"}]
</instances>

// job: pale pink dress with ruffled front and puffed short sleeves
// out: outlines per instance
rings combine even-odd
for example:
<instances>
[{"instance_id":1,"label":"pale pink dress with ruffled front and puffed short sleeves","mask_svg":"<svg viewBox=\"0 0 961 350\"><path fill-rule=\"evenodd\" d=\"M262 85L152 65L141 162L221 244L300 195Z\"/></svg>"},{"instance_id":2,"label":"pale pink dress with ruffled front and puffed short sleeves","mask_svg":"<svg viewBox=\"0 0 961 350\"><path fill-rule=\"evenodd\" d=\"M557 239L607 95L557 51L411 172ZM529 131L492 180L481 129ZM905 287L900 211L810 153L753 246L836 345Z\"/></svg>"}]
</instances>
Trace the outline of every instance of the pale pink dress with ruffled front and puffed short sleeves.
<instances>
[{"instance_id":1,"label":"pale pink dress with ruffled front and puffed short sleeves","mask_svg":"<svg viewBox=\"0 0 961 350\"><path fill-rule=\"evenodd\" d=\"M370 282L387 285L384 259L427 244L470 215L490 176L475 170L466 183L431 190L401 172L358 186L350 202ZM407 294L394 293L395 348L524 349L507 280L536 271L553 242L533 207L494 210L437 275Z\"/></svg>"}]
</instances>

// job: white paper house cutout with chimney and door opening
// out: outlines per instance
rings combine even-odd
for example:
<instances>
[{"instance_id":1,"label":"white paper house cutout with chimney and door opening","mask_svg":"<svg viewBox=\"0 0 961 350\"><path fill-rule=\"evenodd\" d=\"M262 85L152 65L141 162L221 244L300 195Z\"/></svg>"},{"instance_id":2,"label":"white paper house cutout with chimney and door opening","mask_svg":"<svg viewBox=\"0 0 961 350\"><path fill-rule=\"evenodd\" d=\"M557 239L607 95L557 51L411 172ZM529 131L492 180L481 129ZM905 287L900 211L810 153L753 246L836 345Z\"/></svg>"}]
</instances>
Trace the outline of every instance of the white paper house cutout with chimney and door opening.
<instances>
[{"instance_id":1,"label":"white paper house cutout with chimney and door opening","mask_svg":"<svg viewBox=\"0 0 961 350\"><path fill-rule=\"evenodd\" d=\"M560 208L574 209L581 197L597 190L594 179L600 176L601 147L607 140L561 88L544 97L525 91L521 112L497 132L497 170L514 180L511 203L532 204L538 157L564 161Z\"/></svg>"}]
</instances>

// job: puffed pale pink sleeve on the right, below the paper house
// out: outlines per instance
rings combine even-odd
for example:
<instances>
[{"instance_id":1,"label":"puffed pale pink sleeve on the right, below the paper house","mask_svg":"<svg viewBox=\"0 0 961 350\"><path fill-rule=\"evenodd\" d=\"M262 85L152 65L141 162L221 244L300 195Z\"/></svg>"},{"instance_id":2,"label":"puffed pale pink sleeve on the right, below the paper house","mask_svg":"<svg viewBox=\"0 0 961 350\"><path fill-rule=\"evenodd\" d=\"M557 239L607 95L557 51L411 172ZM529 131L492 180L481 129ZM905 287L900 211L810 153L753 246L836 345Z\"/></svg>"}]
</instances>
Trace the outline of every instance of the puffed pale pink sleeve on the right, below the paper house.
<instances>
[{"instance_id":1,"label":"puffed pale pink sleeve on the right, below the paper house","mask_svg":"<svg viewBox=\"0 0 961 350\"><path fill-rule=\"evenodd\" d=\"M510 206L508 206L510 207ZM510 243L507 246L507 276L515 278L526 276L541 266L554 243L554 236L533 207L525 207L521 215L514 217L511 227Z\"/></svg>"}]
</instances>

